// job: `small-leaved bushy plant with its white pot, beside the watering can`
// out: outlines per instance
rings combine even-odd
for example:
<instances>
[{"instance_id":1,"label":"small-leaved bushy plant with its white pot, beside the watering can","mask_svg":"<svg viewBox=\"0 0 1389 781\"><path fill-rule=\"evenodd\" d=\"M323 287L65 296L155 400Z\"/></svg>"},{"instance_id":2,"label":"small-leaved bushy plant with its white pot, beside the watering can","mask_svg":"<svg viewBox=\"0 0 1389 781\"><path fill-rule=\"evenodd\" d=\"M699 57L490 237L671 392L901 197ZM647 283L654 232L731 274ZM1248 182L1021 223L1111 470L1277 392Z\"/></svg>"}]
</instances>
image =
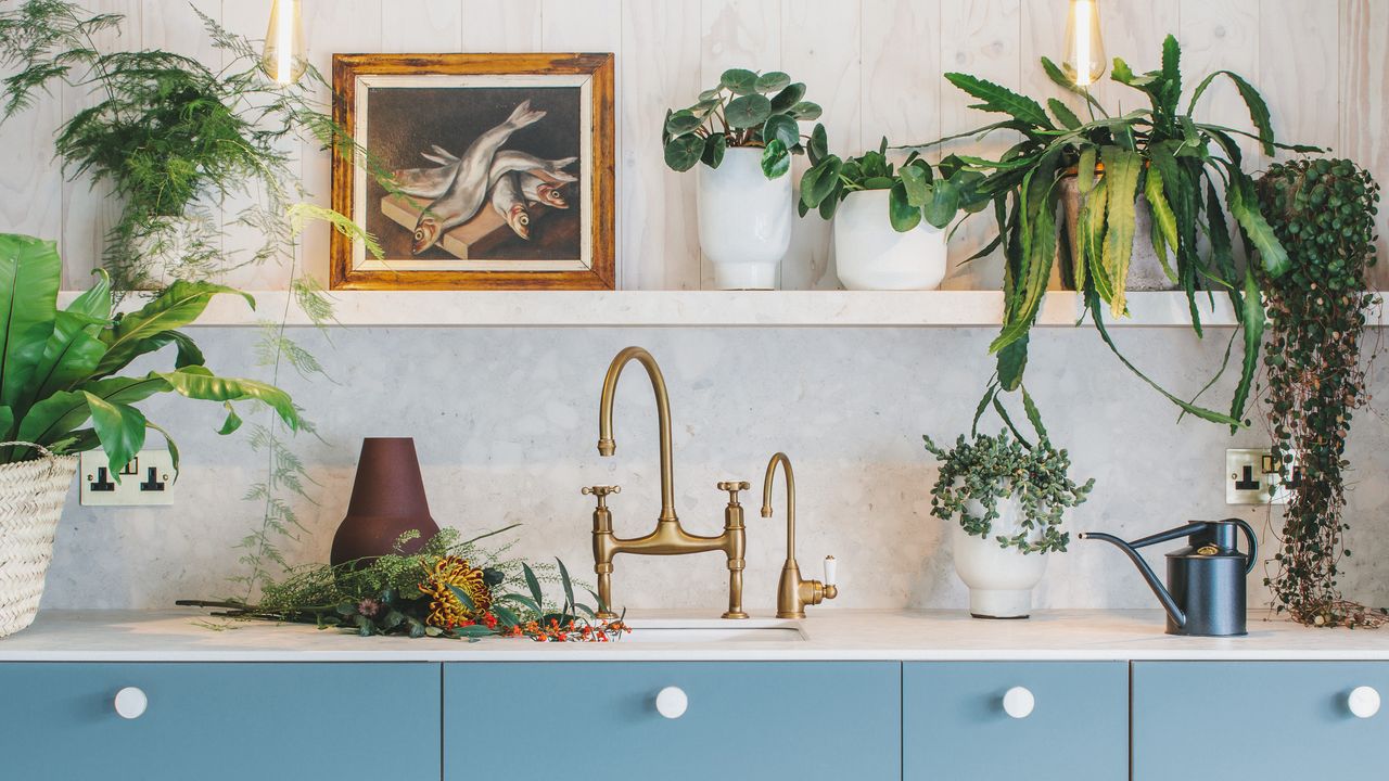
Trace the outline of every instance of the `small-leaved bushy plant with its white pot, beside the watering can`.
<instances>
[{"instance_id":1,"label":"small-leaved bushy plant with its white pot, beside the watering can","mask_svg":"<svg viewBox=\"0 0 1389 781\"><path fill-rule=\"evenodd\" d=\"M974 432L949 450L924 438L940 461L931 514L957 521L956 574L970 586L970 614L976 618L1028 617L1046 554L1064 552L1070 542L1061 531L1067 510L1095 486L1095 479L1076 485L1067 452L1040 434L1032 445L1007 431Z\"/></svg>"}]
</instances>

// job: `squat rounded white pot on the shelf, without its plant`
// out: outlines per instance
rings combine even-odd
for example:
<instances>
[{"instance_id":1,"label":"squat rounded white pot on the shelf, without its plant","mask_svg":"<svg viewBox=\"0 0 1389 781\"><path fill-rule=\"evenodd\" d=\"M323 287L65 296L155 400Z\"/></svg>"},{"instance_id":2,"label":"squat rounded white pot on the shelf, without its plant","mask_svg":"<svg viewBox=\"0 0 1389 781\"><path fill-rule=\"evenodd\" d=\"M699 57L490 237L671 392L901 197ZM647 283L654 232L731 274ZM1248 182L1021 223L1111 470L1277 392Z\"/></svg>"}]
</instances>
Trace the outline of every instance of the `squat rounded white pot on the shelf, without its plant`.
<instances>
[{"instance_id":1,"label":"squat rounded white pot on the shelf, without its plant","mask_svg":"<svg viewBox=\"0 0 1389 781\"><path fill-rule=\"evenodd\" d=\"M835 267L850 290L933 290L946 278L946 232L922 221L899 233L889 190L850 193L835 211Z\"/></svg>"}]
</instances>

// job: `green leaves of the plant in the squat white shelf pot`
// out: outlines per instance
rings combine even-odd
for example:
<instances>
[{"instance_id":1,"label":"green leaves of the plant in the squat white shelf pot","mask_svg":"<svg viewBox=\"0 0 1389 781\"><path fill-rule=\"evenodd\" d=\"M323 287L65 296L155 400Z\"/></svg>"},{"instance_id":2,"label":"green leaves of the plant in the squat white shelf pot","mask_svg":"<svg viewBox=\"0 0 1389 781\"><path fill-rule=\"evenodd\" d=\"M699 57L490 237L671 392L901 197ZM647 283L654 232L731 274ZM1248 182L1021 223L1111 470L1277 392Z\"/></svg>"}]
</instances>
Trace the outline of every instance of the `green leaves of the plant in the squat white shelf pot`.
<instances>
[{"instance_id":1,"label":"green leaves of the plant in the squat white shelf pot","mask_svg":"<svg viewBox=\"0 0 1389 781\"><path fill-rule=\"evenodd\" d=\"M897 232L907 232L926 221L945 229L961 210L979 211L988 199L976 186L983 174L967 168L958 157L950 156L932 171L931 164L911 151L901 165L888 160L888 139L875 151L842 160L824 154L818 145L810 145L810 170L800 179L800 200L796 208L804 217L811 208L829 220L839 203L858 190L890 190L888 220Z\"/></svg>"}]
</instances>

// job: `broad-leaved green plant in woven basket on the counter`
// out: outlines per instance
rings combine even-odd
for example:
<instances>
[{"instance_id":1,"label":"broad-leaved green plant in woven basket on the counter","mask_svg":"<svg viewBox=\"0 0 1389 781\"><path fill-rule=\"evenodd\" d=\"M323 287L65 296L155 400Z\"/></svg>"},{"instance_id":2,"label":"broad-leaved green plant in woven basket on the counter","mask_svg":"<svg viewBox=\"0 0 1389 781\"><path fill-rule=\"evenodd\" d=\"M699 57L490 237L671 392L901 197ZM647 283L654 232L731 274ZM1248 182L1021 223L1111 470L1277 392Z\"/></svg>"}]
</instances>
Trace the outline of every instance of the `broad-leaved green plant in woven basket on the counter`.
<instances>
[{"instance_id":1,"label":"broad-leaved green plant in woven basket on the counter","mask_svg":"<svg viewBox=\"0 0 1389 781\"><path fill-rule=\"evenodd\" d=\"M101 447L125 464L147 428L164 429L138 409L154 393L222 402L231 434L240 418L231 403L258 400L290 427L289 396L264 382L217 377L179 328L218 293L246 293L208 282L174 282L138 311L113 314L107 275L58 310L63 261L53 242L0 233L0 636L33 621L53 535L76 471L76 453ZM172 345L172 371L122 377L131 361ZM165 439L168 435L165 434ZM178 468L178 447L169 441ZM117 477L117 479L119 479Z\"/></svg>"}]
</instances>

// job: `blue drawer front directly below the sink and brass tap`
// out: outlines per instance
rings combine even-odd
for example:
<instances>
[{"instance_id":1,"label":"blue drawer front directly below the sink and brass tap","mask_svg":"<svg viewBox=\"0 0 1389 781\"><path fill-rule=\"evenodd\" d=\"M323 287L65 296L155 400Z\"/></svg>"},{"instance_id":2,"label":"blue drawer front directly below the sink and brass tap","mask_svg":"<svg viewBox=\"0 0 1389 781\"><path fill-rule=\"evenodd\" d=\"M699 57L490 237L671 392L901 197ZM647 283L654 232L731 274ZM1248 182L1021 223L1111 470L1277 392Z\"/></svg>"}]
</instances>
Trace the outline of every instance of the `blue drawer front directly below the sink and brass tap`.
<instances>
[{"instance_id":1,"label":"blue drawer front directly below the sink and brass tap","mask_svg":"<svg viewBox=\"0 0 1389 781\"><path fill-rule=\"evenodd\" d=\"M443 777L897 780L900 687L896 661L446 664Z\"/></svg>"}]
</instances>

